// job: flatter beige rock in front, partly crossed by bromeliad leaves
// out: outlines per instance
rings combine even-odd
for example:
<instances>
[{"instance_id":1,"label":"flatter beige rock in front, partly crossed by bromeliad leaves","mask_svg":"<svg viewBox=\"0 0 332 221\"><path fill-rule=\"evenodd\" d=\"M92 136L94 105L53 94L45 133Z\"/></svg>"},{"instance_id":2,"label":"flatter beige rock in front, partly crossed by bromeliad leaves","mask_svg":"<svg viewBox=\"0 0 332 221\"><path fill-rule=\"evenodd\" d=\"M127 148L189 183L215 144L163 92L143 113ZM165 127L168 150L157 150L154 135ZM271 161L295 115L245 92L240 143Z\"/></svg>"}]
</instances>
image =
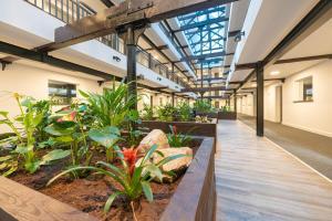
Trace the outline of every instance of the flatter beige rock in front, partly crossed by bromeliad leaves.
<instances>
[{"instance_id":1,"label":"flatter beige rock in front, partly crossed by bromeliad leaves","mask_svg":"<svg viewBox=\"0 0 332 221\"><path fill-rule=\"evenodd\" d=\"M186 157L180 157L174 159L165 165L162 166L164 171L177 171L183 169L184 167L187 168L191 160L193 160L193 149L189 147L176 147L176 148L167 148L167 149L159 149L159 151L164 155L162 157L158 154L154 154L153 162L158 164L165 157L170 157L175 155L187 155Z\"/></svg>"}]
</instances>

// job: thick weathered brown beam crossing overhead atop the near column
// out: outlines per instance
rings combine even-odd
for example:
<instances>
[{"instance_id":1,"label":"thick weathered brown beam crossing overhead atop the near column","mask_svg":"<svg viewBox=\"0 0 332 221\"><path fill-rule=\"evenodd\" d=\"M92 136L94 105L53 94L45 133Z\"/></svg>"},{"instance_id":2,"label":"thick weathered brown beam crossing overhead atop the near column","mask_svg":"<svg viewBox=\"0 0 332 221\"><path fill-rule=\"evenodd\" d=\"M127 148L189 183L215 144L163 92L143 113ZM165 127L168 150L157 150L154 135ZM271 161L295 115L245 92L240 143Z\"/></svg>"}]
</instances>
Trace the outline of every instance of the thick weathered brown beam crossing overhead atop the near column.
<instances>
[{"instance_id":1,"label":"thick weathered brown beam crossing overhead atop the near column","mask_svg":"<svg viewBox=\"0 0 332 221\"><path fill-rule=\"evenodd\" d=\"M44 51L58 50L98 36L116 33L127 24L136 28L180 14L209 9L238 0L131 0L95 15L83 18L55 30L55 42Z\"/></svg>"}]
</instances>

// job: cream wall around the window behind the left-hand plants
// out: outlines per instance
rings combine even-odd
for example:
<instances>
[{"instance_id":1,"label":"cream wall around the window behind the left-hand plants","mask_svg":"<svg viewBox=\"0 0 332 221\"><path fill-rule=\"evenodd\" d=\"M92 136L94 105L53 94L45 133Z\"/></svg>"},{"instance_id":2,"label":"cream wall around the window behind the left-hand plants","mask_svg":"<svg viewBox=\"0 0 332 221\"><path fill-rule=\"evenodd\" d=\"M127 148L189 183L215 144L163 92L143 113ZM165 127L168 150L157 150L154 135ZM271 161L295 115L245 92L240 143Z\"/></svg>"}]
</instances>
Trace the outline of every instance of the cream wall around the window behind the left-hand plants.
<instances>
[{"instance_id":1,"label":"cream wall around the window behind the left-hand plants","mask_svg":"<svg viewBox=\"0 0 332 221\"><path fill-rule=\"evenodd\" d=\"M10 116L19 114L18 105L12 97L14 92L37 99L49 98L49 80L76 84L77 91L95 93L101 93L103 86L106 86L100 87L97 80L71 76L45 69L14 63L8 65L6 71L0 71L0 110L9 112ZM80 97L79 93L77 97ZM4 131L8 131L8 128L0 127L0 134Z\"/></svg>"}]
</instances>

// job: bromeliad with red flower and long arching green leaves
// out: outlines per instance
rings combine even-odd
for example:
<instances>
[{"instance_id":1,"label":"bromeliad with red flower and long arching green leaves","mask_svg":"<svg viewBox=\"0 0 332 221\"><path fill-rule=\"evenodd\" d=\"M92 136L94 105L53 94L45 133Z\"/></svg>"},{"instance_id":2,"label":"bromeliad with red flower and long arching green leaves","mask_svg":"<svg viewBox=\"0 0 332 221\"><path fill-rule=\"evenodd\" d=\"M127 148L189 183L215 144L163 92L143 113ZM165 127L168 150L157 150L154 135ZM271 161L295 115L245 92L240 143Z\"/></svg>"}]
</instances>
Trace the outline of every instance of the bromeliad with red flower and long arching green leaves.
<instances>
[{"instance_id":1,"label":"bromeliad with red flower and long arching green leaves","mask_svg":"<svg viewBox=\"0 0 332 221\"><path fill-rule=\"evenodd\" d=\"M122 162L122 168L115 167L112 164L107 164L103 161L96 162L96 167L76 166L59 173L58 176L52 178L48 182L48 185L51 185L54 180L62 177L63 175L77 171L77 170L92 170L95 171L96 173L107 176L112 178L114 181L116 181L122 187L122 189L116 190L113 194L108 197L104 207L104 211L107 212L110 210L113 201L118 196L125 196L132 207L134 220L137 220L135 215L134 202L137 201L143 193L149 202L153 201L154 197L151 188L151 181L154 179L158 179L162 181L163 173L165 173L159 168L163 165L174 159L185 157L186 155L174 155L174 156L165 157L159 162L153 164L151 161L153 154L162 155L159 151L157 151L156 145L153 145L146 151L146 154L142 157L141 161L137 161L138 148L133 148L133 147L128 149L124 148L122 151L117 146L115 146L114 148L116 149L117 157Z\"/></svg>"}]
</instances>

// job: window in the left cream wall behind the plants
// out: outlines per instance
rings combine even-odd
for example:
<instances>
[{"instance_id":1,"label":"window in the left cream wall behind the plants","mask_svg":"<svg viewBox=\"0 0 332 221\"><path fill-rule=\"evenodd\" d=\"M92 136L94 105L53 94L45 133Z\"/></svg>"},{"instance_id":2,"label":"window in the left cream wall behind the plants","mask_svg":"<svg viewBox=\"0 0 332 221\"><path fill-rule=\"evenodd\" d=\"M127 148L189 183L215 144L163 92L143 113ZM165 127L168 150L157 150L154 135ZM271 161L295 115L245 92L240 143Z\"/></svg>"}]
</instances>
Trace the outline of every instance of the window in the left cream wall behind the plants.
<instances>
[{"instance_id":1,"label":"window in the left cream wall behind the plants","mask_svg":"<svg viewBox=\"0 0 332 221\"><path fill-rule=\"evenodd\" d=\"M53 105L70 105L76 97L76 85L49 81L49 96Z\"/></svg>"}]
</instances>

